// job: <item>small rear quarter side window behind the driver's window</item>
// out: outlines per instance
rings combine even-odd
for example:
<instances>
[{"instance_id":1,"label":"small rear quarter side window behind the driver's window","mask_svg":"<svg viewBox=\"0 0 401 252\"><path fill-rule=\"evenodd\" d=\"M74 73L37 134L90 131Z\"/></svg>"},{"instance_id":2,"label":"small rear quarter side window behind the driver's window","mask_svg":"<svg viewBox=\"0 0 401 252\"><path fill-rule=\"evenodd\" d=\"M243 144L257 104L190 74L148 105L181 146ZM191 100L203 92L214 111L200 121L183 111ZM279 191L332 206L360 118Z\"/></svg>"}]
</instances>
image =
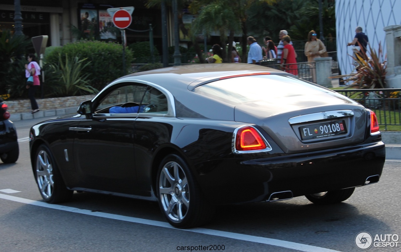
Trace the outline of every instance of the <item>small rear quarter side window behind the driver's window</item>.
<instances>
[{"instance_id":1,"label":"small rear quarter side window behind the driver's window","mask_svg":"<svg viewBox=\"0 0 401 252\"><path fill-rule=\"evenodd\" d=\"M142 101L141 113L167 114L168 103L166 96L154 87L148 87Z\"/></svg>"}]
</instances>

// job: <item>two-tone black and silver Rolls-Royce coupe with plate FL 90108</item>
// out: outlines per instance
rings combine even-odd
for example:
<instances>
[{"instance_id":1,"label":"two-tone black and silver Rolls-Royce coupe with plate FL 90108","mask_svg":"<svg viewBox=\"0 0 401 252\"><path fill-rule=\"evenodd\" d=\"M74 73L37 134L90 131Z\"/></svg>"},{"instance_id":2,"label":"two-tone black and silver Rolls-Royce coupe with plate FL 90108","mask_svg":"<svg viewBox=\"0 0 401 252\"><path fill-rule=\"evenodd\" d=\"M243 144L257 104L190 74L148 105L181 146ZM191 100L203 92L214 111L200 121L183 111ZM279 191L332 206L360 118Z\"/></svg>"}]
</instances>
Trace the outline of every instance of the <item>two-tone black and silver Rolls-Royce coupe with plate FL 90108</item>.
<instances>
[{"instance_id":1,"label":"two-tone black and silver Rolls-Royce coupe with plate FL 90108","mask_svg":"<svg viewBox=\"0 0 401 252\"><path fill-rule=\"evenodd\" d=\"M250 64L127 75L77 112L30 130L43 199L76 190L158 201L179 228L204 224L221 204L342 202L378 182L385 162L373 111Z\"/></svg>"}]
</instances>

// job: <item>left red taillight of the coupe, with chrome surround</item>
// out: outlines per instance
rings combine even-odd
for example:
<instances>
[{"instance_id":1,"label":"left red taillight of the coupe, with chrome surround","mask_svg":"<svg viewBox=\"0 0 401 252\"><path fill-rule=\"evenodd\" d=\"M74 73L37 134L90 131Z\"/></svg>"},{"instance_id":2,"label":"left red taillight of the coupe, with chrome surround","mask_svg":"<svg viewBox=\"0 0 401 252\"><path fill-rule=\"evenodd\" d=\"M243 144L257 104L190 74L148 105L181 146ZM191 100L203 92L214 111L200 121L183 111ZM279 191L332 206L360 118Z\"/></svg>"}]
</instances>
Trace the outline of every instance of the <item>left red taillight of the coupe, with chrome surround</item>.
<instances>
[{"instance_id":1,"label":"left red taillight of the coupe, with chrome surround","mask_svg":"<svg viewBox=\"0 0 401 252\"><path fill-rule=\"evenodd\" d=\"M261 133L251 125L239 127L234 132L235 153L250 153L259 151L271 151L269 143Z\"/></svg>"}]
</instances>

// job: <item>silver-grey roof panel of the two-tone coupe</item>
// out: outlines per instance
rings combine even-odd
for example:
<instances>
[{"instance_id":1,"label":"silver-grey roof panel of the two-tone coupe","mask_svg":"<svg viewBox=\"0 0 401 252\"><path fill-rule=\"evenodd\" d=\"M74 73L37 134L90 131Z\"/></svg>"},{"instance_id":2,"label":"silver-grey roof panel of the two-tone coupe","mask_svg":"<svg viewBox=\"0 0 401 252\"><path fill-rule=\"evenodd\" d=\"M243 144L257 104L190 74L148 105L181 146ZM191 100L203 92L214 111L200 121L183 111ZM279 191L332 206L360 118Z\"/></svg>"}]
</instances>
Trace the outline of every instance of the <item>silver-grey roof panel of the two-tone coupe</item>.
<instances>
[{"instance_id":1,"label":"silver-grey roof panel of the two-tone coupe","mask_svg":"<svg viewBox=\"0 0 401 252\"><path fill-rule=\"evenodd\" d=\"M277 69L243 63L221 63L221 64L189 64L182 66L166 67L133 73L119 78L118 80L142 80L156 83L162 87L169 88L174 85L176 88L192 90L194 87L222 77L233 75L245 75L252 73L271 73L290 75Z\"/></svg>"}]
</instances>

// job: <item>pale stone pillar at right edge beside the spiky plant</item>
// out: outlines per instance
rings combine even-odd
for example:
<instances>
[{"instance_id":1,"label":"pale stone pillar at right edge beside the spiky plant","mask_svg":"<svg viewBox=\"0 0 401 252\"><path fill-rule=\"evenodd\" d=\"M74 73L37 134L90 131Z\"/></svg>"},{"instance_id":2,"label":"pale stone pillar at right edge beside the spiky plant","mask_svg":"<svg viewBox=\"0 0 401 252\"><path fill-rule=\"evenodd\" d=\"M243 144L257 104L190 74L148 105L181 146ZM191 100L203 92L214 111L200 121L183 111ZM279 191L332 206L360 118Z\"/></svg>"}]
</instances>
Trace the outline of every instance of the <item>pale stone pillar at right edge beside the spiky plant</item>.
<instances>
[{"instance_id":1,"label":"pale stone pillar at right edge beside the spiky plant","mask_svg":"<svg viewBox=\"0 0 401 252\"><path fill-rule=\"evenodd\" d=\"M401 25L383 28L387 47L387 88L401 88Z\"/></svg>"}]
</instances>

